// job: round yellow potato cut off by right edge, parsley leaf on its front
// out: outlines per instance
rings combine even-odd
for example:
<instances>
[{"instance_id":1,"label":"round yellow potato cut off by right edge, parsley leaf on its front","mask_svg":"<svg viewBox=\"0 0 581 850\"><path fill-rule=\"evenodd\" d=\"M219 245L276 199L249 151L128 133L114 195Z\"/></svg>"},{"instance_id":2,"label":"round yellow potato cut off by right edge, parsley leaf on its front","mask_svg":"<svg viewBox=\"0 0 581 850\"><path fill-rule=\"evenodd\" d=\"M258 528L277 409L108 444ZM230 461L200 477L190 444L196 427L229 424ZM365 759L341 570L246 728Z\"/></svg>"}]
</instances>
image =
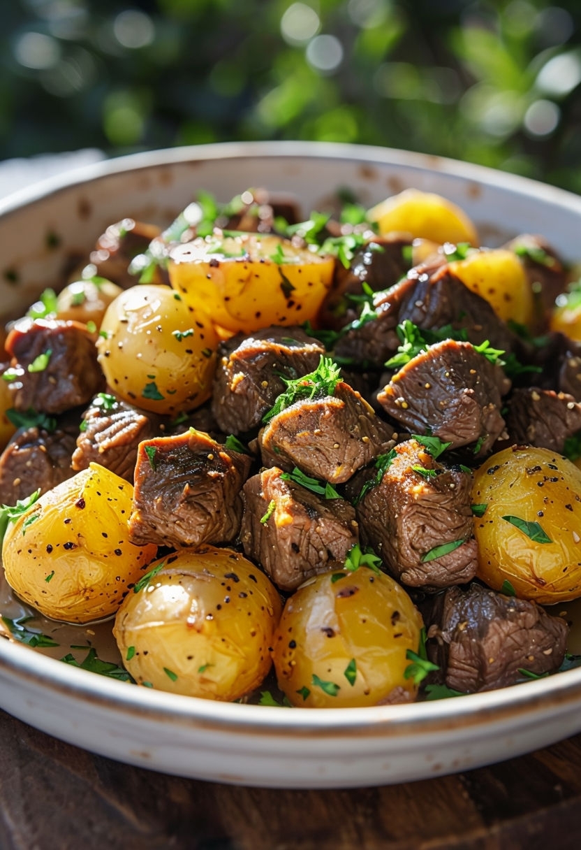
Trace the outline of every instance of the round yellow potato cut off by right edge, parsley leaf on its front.
<instances>
[{"instance_id":1,"label":"round yellow potato cut off by right edge, parsley leaf on its front","mask_svg":"<svg viewBox=\"0 0 581 850\"><path fill-rule=\"evenodd\" d=\"M516 596L550 605L581 596L581 471L548 449L511 446L474 474L477 575L494 590L510 581ZM536 522L538 542L505 516Z\"/></svg>"}]
</instances>

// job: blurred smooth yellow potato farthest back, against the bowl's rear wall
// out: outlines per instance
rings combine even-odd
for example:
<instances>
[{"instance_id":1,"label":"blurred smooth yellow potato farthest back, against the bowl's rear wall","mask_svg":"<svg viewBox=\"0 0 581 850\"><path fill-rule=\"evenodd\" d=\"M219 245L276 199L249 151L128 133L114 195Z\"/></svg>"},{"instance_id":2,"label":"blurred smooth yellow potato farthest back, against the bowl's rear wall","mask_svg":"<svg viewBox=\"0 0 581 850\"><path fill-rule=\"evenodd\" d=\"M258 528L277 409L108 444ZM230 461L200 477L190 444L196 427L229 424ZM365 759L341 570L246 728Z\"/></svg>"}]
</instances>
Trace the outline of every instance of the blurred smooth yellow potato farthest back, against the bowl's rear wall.
<instances>
[{"instance_id":1,"label":"blurred smooth yellow potato farthest back, against the bowl's rear wall","mask_svg":"<svg viewBox=\"0 0 581 850\"><path fill-rule=\"evenodd\" d=\"M367 213L380 234L399 231L443 245L444 242L478 244L477 230L460 207L441 195L406 189L386 198Z\"/></svg>"}]
</instances>

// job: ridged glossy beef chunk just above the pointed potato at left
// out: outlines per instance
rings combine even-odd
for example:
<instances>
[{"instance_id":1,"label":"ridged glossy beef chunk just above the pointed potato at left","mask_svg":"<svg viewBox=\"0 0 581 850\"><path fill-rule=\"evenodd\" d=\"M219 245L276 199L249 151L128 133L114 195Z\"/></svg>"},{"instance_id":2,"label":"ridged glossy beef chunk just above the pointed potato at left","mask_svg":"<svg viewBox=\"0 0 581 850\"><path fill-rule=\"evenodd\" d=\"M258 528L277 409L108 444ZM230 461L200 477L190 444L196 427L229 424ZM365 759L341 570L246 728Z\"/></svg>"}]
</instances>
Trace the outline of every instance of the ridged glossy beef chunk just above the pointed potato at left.
<instances>
[{"instance_id":1,"label":"ridged glossy beef chunk just above the pointed potato at left","mask_svg":"<svg viewBox=\"0 0 581 850\"><path fill-rule=\"evenodd\" d=\"M166 418L139 411L107 393L95 396L83 421L72 456L73 469L87 469L93 461L132 483L138 444L143 439L161 435L168 422Z\"/></svg>"}]
</instances>

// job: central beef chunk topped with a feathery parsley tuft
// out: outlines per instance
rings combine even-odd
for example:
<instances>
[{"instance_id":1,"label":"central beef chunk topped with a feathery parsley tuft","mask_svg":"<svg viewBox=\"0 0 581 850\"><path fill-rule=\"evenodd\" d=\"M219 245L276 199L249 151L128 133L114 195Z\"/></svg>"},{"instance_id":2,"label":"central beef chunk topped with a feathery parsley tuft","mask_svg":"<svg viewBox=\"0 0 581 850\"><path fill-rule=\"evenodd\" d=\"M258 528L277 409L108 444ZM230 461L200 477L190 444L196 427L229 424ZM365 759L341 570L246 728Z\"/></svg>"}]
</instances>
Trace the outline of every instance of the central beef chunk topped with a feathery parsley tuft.
<instances>
[{"instance_id":1,"label":"central beef chunk topped with a feathery parsley tuft","mask_svg":"<svg viewBox=\"0 0 581 850\"><path fill-rule=\"evenodd\" d=\"M376 455L391 449L397 434L347 383L335 394L302 399L268 422L259 435L262 462L342 484Z\"/></svg>"}]
</instances>

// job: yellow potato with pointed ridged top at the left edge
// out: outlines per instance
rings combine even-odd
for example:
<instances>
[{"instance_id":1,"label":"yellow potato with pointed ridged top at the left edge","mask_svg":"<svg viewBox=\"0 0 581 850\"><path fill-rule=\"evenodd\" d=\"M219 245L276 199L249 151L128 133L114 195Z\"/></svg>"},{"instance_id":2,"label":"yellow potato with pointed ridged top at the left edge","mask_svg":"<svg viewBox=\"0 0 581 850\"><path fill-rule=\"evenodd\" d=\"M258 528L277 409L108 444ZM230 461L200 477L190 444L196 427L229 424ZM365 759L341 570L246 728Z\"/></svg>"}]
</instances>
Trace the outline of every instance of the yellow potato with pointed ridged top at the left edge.
<instances>
[{"instance_id":1,"label":"yellow potato with pointed ridged top at the left edge","mask_svg":"<svg viewBox=\"0 0 581 850\"><path fill-rule=\"evenodd\" d=\"M157 553L129 540L132 495L132 484L97 463L48 490L8 523L2 557L10 587L53 620L115 614Z\"/></svg>"}]
</instances>

